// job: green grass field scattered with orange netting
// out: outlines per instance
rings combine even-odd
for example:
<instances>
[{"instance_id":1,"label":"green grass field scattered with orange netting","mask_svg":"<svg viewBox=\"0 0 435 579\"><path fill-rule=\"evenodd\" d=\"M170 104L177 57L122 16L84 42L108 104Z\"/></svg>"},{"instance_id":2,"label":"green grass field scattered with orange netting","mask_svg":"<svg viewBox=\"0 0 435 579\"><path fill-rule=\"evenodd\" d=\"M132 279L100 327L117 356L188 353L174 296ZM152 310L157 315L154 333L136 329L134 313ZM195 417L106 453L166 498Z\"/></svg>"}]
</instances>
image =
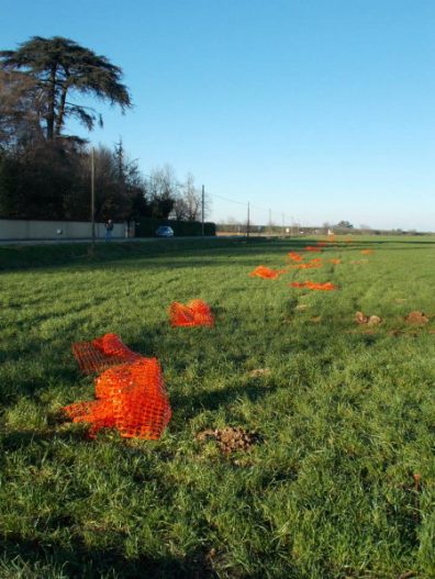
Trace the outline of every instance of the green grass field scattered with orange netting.
<instances>
[{"instance_id":1,"label":"green grass field scattered with orange netting","mask_svg":"<svg viewBox=\"0 0 435 579\"><path fill-rule=\"evenodd\" d=\"M313 243L0 247L1 578L435 577L435 238L355 237L309 255L320 269L248 277ZM338 290L289 287L306 279ZM193 298L214 329L170 326ZM93 397L71 344L107 332L161 363L158 442L58 420ZM196 438L224 426L259 438Z\"/></svg>"}]
</instances>

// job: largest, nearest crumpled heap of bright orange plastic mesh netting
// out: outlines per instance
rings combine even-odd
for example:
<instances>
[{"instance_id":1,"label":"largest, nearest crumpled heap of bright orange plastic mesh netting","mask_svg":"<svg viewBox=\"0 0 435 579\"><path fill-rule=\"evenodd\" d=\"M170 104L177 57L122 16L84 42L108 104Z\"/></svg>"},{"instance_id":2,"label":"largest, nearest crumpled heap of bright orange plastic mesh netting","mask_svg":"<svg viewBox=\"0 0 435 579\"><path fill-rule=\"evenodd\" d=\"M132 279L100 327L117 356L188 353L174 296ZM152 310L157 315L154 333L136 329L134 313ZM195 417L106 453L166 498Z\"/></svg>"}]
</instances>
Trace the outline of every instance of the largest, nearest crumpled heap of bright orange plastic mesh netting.
<instances>
[{"instance_id":1,"label":"largest, nearest crumpled heap of bright orange plastic mesh netting","mask_svg":"<svg viewBox=\"0 0 435 579\"><path fill-rule=\"evenodd\" d=\"M115 427L125 438L158 439L171 416L156 358L141 357L105 370L96 380L96 397L63 409L74 422L90 423L90 436Z\"/></svg>"}]
</instances>

